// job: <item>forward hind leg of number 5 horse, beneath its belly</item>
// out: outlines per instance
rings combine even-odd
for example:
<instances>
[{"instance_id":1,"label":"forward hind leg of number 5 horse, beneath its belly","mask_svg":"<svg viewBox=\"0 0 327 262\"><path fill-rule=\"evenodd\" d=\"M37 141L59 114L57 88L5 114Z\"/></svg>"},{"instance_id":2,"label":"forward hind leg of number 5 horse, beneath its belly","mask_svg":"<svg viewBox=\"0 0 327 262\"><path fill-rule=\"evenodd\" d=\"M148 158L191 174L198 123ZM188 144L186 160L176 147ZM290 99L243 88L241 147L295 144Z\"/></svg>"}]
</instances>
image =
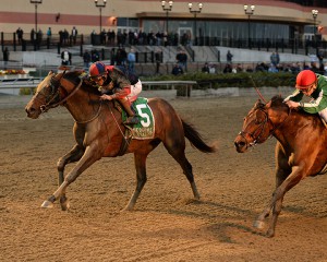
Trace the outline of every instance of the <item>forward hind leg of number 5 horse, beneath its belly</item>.
<instances>
[{"instance_id":1,"label":"forward hind leg of number 5 horse, beneath its belly","mask_svg":"<svg viewBox=\"0 0 327 262\"><path fill-rule=\"evenodd\" d=\"M134 209L134 205L137 201L138 195L141 194L142 189L144 188L144 184L146 183L146 157L147 154L137 154L134 153L134 162L135 162L135 168L136 168L136 188L128 203L128 205L124 207L124 211L131 211Z\"/></svg>"}]
</instances>

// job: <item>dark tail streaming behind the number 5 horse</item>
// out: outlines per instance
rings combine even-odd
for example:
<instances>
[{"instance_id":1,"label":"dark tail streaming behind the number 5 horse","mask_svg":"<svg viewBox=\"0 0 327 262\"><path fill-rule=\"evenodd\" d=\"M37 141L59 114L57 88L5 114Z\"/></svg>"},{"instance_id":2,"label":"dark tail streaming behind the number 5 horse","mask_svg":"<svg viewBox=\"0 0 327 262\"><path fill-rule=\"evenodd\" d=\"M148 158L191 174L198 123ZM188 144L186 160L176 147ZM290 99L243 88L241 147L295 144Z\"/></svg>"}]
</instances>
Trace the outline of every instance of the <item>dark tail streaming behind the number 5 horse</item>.
<instances>
[{"instance_id":1,"label":"dark tail streaming behind the number 5 horse","mask_svg":"<svg viewBox=\"0 0 327 262\"><path fill-rule=\"evenodd\" d=\"M191 145L204 153L214 153L217 151L216 145L208 145L204 142L201 134L190 123L182 119L184 135L191 142Z\"/></svg>"}]
</instances>

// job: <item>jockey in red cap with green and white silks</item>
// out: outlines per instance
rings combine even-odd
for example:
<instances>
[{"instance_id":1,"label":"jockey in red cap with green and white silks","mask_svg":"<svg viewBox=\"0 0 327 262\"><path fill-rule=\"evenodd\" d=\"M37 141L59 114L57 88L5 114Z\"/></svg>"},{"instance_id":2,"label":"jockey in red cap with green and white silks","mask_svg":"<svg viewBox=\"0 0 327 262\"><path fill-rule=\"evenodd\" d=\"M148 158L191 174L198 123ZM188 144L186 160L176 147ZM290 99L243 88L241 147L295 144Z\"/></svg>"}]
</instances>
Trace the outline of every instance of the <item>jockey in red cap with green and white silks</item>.
<instances>
[{"instance_id":1,"label":"jockey in red cap with green and white silks","mask_svg":"<svg viewBox=\"0 0 327 262\"><path fill-rule=\"evenodd\" d=\"M296 76L295 91L284 98L290 108L302 108L308 114L319 114L327 123L327 79L311 70L303 70ZM312 97L310 103L301 102L303 95Z\"/></svg>"}]
</instances>

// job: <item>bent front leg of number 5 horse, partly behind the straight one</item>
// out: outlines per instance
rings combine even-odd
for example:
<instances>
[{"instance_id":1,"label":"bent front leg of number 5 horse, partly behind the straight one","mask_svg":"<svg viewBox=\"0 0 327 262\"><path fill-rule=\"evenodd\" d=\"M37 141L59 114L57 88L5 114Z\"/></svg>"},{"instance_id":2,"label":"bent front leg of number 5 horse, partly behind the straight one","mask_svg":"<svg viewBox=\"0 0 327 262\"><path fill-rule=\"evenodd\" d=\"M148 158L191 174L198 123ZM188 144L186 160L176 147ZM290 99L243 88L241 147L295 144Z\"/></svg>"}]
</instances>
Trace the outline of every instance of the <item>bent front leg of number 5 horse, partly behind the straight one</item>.
<instances>
[{"instance_id":1,"label":"bent front leg of number 5 horse, partly behind the straight one","mask_svg":"<svg viewBox=\"0 0 327 262\"><path fill-rule=\"evenodd\" d=\"M64 167L66 164L74 163L81 159L81 157L84 154L84 147L76 144L69 153L66 153L64 156L59 158L57 163L57 169L58 169L58 186L60 186L64 180ZM62 191L62 194L60 196L60 205L63 211L69 209L69 201L65 196L65 191Z\"/></svg>"}]
</instances>

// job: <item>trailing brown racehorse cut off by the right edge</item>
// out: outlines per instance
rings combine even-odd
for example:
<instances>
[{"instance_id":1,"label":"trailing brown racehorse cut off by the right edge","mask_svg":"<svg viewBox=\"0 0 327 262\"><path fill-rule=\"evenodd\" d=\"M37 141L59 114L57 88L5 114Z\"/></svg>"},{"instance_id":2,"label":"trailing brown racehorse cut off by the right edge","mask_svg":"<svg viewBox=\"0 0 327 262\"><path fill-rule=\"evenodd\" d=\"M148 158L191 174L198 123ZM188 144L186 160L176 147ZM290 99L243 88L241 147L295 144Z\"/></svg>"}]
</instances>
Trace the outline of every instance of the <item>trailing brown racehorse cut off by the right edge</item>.
<instances>
[{"instance_id":1,"label":"trailing brown racehorse cut off by the right edge","mask_svg":"<svg viewBox=\"0 0 327 262\"><path fill-rule=\"evenodd\" d=\"M291 188L308 176L326 172L327 130L320 118L303 111L290 110L280 96L267 104L258 100L244 119L243 129L234 145L239 153L264 143L270 135L276 145L276 190L266 209L254 223L263 228L264 219L272 209L272 217L267 230L274 237L282 200Z\"/></svg>"}]
</instances>

